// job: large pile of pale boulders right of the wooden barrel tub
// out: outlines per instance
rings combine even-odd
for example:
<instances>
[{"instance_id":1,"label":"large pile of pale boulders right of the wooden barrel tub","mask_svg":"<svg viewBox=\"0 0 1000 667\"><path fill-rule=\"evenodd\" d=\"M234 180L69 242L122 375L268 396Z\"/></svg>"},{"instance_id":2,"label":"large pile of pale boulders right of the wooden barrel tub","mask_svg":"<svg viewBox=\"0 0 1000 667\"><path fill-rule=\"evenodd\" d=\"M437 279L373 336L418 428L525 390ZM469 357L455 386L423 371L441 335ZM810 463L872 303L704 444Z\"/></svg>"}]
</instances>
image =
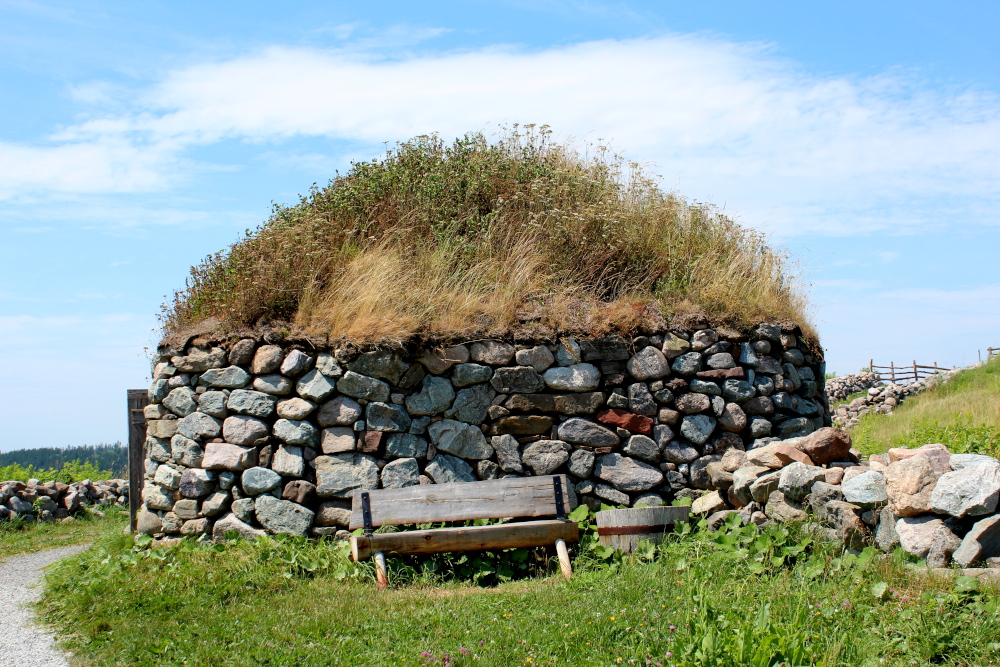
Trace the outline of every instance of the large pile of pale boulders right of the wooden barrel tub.
<instances>
[{"instance_id":1,"label":"large pile of pale boulders right of the wooden barrel tub","mask_svg":"<svg viewBox=\"0 0 1000 667\"><path fill-rule=\"evenodd\" d=\"M1000 461L950 454L944 445L897 448L858 462L845 431L824 428L748 452L730 451L704 474L719 490L699 496L695 513L721 525L801 521L811 514L827 535L853 549L902 546L929 567L967 567L1000 557Z\"/></svg>"}]
</instances>

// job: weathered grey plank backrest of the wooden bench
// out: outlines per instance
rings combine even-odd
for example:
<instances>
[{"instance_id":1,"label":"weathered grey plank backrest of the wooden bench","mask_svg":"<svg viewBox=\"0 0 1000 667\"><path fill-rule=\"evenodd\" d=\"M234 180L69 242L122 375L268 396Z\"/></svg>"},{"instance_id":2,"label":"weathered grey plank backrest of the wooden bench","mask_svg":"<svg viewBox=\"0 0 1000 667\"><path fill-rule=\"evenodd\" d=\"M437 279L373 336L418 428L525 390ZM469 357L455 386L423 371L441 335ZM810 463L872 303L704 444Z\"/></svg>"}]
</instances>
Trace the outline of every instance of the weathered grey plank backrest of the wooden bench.
<instances>
[{"instance_id":1,"label":"weathered grey plank backrest of the wooden bench","mask_svg":"<svg viewBox=\"0 0 1000 667\"><path fill-rule=\"evenodd\" d=\"M556 477L562 486L563 510L568 514L569 483L566 475L422 484L402 489L373 489L365 493L369 494L373 528L438 521L555 516ZM354 492L351 530L365 525L361 494L360 490Z\"/></svg>"}]
</instances>

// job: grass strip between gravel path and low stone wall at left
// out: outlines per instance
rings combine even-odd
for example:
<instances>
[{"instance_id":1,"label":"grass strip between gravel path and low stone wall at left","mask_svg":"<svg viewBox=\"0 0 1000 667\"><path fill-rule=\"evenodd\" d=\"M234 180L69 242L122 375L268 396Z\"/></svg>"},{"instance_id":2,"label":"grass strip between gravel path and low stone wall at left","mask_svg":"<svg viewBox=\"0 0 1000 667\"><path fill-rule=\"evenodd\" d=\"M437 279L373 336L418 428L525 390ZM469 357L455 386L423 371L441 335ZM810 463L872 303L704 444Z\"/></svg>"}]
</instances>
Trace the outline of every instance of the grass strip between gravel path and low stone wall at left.
<instances>
[{"instance_id":1,"label":"grass strip between gravel path and low stone wall at left","mask_svg":"<svg viewBox=\"0 0 1000 667\"><path fill-rule=\"evenodd\" d=\"M127 519L128 513L109 509L103 519L81 514L70 524L0 521L0 559L85 544L108 533L120 535Z\"/></svg>"}]
</instances>

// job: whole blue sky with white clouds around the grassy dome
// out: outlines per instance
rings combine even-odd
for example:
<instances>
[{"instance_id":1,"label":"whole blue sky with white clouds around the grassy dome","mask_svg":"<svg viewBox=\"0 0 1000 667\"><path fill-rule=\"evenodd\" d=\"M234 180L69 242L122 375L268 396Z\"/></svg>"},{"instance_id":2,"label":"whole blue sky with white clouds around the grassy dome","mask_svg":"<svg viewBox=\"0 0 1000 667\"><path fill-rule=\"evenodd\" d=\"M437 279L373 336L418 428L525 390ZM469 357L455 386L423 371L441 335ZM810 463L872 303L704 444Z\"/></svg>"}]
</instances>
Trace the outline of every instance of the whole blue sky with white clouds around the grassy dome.
<instances>
[{"instance_id":1,"label":"whole blue sky with white clouds around the grassy dome","mask_svg":"<svg viewBox=\"0 0 1000 667\"><path fill-rule=\"evenodd\" d=\"M385 142L548 124L799 261L830 370L1000 345L995 2L0 1L0 450L125 435L188 267Z\"/></svg>"}]
</instances>

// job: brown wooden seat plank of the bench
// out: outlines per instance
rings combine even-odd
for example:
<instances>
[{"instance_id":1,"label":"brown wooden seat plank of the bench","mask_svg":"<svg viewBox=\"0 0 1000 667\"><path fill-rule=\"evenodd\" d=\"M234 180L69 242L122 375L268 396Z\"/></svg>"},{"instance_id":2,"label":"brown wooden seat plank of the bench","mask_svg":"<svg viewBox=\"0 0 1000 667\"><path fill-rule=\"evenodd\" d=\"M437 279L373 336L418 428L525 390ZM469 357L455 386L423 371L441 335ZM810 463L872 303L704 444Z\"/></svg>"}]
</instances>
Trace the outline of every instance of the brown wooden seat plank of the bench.
<instances>
[{"instance_id":1,"label":"brown wooden seat plank of the bench","mask_svg":"<svg viewBox=\"0 0 1000 667\"><path fill-rule=\"evenodd\" d=\"M575 521L527 521L469 528L435 528L383 533L351 538L351 558L362 561L376 552L434 554L446 551L481 551L543 547L556 540L577 542L580 528Z\"/></svg>"}]
</instances>

